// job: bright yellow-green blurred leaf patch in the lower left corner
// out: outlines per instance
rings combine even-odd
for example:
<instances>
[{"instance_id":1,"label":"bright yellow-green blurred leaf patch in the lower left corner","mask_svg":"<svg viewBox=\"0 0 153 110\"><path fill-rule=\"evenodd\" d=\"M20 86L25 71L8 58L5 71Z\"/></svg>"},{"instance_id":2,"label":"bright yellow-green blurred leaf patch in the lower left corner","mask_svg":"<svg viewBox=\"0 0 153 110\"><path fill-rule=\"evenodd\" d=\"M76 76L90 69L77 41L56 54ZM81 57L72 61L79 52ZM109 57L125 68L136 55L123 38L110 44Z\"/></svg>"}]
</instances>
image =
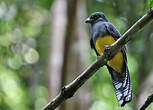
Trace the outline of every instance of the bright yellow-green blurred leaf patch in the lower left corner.
<instances>
[{"instance_id":1,"label":"bright yellow-green blurred leaf patch in the lower left corner","mask_svg":"<svg viewBox=\"0 0 153 110\"><path fill-rule=\"evenodd\" d=\"M0 65L0 99L6 105L6 110L28 110L26 92L15 72ZM24 100L23 100L24 99ZM1 105L0 108L3 108Z\"/></svg>"}]
</instances>

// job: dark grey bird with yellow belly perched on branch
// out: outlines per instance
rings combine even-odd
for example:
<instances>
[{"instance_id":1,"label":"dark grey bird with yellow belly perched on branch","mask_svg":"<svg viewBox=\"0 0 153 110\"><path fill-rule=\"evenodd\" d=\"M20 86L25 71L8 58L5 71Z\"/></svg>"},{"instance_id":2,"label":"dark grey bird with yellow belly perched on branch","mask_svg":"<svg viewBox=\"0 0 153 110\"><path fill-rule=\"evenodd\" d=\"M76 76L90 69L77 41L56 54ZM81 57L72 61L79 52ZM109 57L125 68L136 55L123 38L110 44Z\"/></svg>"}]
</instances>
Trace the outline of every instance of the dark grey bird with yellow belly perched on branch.
<instances>
[{"instance_id":1,"label":"dark grey bird with yellow belly perched on branch","mask_svg":"<svg viewBox=\"0 0 153 110\"><path fill-rule=\"evenodd\" d=\"M121 36L116 27L108 21L103 12L94 12L85 23L91 24L90 46L97 58L104 53L106 46L113 44ZM110 73L119 106L132 100L132 86L127 66L126 46L105 64Z\"/></svg>"}]
</instances>

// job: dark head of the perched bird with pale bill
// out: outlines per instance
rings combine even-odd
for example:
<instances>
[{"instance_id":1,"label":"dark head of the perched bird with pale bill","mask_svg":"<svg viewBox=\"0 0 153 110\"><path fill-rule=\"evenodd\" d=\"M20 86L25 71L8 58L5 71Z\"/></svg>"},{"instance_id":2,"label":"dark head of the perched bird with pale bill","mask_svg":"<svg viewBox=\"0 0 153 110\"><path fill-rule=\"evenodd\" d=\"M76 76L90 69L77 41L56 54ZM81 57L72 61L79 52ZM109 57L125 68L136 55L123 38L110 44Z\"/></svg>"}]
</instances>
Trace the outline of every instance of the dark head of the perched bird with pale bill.
<instances>
[{"instance_id":1,"label":"dark head of the perched bird with pale bill","mask_svg":"<svg viewBox=\"0 0 153 110\"><path fill-rule=\"evenodd\" d=\"M107 18L105 17L104 13L102 12L94 12L92 13L86 20L85 23L93 24L98 21L108 22Z\"/></svg>"}]
</instances>

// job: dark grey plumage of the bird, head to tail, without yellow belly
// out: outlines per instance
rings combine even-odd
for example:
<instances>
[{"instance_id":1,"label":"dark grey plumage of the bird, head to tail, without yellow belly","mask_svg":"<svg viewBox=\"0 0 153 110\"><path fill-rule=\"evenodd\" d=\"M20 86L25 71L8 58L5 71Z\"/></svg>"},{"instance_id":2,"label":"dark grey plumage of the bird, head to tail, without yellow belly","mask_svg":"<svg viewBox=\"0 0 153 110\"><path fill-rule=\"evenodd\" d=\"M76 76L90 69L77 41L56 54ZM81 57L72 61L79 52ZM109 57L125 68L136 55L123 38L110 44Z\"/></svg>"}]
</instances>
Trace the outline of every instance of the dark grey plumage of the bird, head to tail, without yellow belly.
<instances>
[{"instance_id":1,"label":"dark grey plumage of the bird, head to tail, without yellow belly","mask_svg":"<svg viewBox=\"0 0 153 110\"><path fill-rule=\"evenodd\" d=\"M91 48L95 50L97 56L100 56L95 47L97 38L110 35L114 38L114 40L117 40L121 37L119 31L115 28L113 24L108 22L107 18L102 12L95 12L91 14L85 22L91 24L92 38L90 41L90 45ZM127 67L127 56L125 46L121 49L121 52L123 54L124 60L121 73L115 71L112 67L110 67L107 64L106 66L112 78L118 104L120 106L124 106L126 103L132 100L132 87L130 84L129 70Z\"/></svg>"}]
</instances>

